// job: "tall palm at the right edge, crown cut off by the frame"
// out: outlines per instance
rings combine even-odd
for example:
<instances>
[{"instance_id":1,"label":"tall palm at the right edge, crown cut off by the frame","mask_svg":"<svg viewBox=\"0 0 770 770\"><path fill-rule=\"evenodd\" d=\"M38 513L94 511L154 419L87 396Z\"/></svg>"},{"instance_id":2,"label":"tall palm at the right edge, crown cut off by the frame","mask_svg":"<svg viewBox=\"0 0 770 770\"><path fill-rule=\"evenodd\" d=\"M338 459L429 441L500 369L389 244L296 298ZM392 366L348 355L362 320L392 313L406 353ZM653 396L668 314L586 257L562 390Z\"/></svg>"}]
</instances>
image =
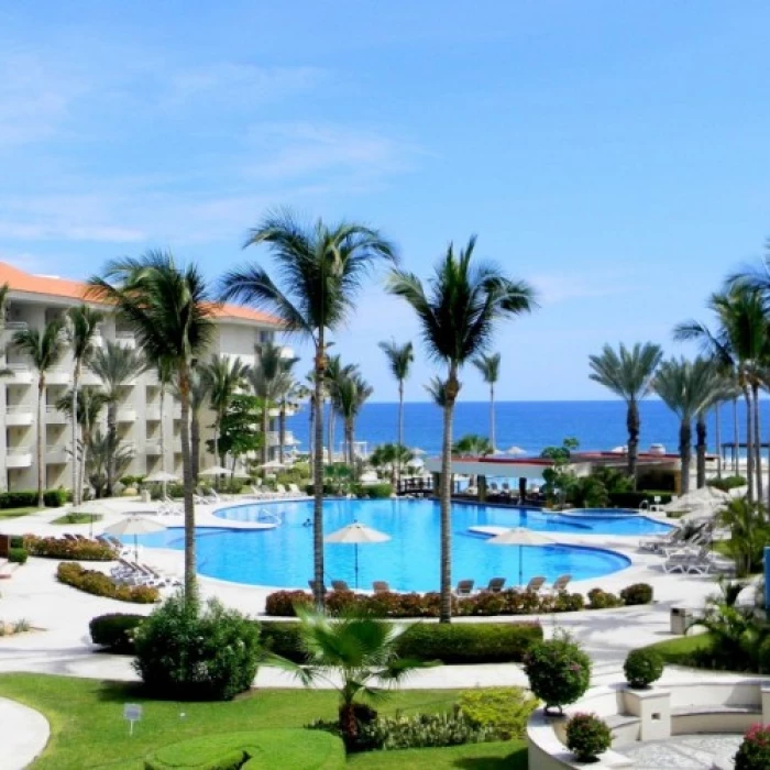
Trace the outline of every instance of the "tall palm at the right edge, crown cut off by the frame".
<instances>
[{"instance_id":1,"label":"tall palm at the right edge, crown cut off by the frame","mask_svg":"<svg viewBox=\"0 0 770 770\"><path fill-rule=\"evenodd\" d=\"M717 319L715 331L700 321L685 321L674 329L678 340L694 340L722 371L734 372L746 403L746 463L749 501L761 499L762 476L758 460L759 388L768 358L768 321L762 295L735 283L726 292L713 294L708 307ZM756 473L755 473L756 472Z\"/></svg>"}]
</instances>

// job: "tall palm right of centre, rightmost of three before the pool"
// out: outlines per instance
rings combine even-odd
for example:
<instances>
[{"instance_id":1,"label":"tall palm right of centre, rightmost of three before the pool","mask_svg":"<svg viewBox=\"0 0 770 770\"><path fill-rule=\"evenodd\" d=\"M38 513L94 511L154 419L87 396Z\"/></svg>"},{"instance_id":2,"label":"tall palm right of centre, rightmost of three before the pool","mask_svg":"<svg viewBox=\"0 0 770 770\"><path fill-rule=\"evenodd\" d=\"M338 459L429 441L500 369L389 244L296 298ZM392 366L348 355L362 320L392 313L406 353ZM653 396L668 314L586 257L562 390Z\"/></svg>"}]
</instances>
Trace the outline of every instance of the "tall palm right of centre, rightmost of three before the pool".
<instances>
[{"instance_id":1,"label":"tall palm right of centre, rightmost of three before the pool","mask_svg":"<svg viewBox=\"0 0 770 770\"><path fill-rule=\"evenodd\" d=\"M496 266L473 260L475 243L472 237L459 253L450 243L427 292L411 273L394 271L388 279L391 294L403 297L415 310L429 356L447 367L440 490L442 623L449 623L452 615L451 451L459 374L488 346L499 320L529 312L535 306L535 290L527 283L510 280Z\"/></svg>"}]
</instances>

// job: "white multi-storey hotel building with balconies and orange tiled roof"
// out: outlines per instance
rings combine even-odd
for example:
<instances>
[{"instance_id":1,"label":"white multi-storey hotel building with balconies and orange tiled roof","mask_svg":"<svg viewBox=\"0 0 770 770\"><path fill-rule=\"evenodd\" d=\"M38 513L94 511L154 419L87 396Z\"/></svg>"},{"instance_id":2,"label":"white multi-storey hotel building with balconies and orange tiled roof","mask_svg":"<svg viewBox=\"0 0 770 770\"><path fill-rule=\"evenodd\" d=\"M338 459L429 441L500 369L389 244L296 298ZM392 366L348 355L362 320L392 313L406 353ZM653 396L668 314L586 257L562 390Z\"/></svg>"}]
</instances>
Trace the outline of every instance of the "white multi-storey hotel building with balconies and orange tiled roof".
<instances>
[{"instance_id":1,"label":"white multi-storey hotel building with balconies and orange tiled roof","mask_svg":"<svg viewBox=\"0 0 770 770\"><path fill-rule=\"evenodd\" d=\"M0 262L0 285L8 284L6 324L0 345L0 367L10 374L0 378L0 486L7 490L32 490L37 485L37 372L29 359L13 344L13 334L20 329L42 329L46 321L62 315L67 308L84 302L86 284L51 276L31 275ZM121 345L136 344L133 333L121 327L109 308L92 300L88 305L107 311L100 324L95 344L113 340ZM278 324L270 316L234 305L218 306L215 310L216 332L209 351L240 358L253 365L256 360L255 345L274 339ZM288 352L288 351L287 351ZM46 487L72 486L69 448L72 429L68 417L54 406L72 387L73 359L69 352L61 363L46 374L45 404L45 480ZM99 378L86 366L82 369L82 385L100 385ZM148 474L165 469L182 476L182 448L179 441L179 404L166 395L164 405L166 458L161 458L161 388L152 371L138 374L127 383L123 398L118 406L118 433L120 441L133 452L133 462L127 473ZM106 420L106 415L102 416ZM212 438L209 427L213 416L201 415L201 469L213 463L205 451L207 439ZM268 447L277 449L278 435L271 426ZM106 424L102 426L106 429ZM286 442L294 443L290 431Z\"/></svg>"}]
</instances>

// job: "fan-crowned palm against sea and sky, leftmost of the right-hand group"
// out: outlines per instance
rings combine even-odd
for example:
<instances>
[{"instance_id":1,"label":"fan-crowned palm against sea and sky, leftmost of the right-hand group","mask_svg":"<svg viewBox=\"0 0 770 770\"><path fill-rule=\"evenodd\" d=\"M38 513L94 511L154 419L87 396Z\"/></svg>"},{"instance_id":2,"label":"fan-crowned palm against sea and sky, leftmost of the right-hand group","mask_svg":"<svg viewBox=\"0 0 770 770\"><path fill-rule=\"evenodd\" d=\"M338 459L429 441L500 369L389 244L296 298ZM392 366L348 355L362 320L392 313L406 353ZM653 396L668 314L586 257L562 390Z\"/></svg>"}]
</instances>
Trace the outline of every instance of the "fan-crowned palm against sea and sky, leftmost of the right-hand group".
<instances>
[{"instance_id":1,"label":"fan-crowned palm against sea and sky, leftmost of the right-hand group","mask_svg":"<svg viewBox=\"0 0 770 770\"><path fill-rule=\"evenodd\" d=\"M600 355L590 355L591 380L604 385L626 402L626 427L628 428L628 475L636 487L636 463L639 453L639 400L651 388L652 377L663 351L651 342L636 343L628 350L620 343L618 352L605 344Z\"/></svg>"}]
</instances>

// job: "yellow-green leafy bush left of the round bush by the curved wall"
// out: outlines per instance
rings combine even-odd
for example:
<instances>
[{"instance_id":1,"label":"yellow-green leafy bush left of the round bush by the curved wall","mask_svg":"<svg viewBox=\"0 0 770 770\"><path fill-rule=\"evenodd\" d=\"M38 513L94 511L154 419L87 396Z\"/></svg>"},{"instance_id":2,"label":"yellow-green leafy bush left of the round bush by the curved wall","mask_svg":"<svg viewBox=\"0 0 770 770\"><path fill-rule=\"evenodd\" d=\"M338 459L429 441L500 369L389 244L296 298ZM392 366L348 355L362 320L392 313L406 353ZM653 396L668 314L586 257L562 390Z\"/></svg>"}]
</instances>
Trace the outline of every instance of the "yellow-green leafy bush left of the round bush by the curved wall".
<instances>
[{"instance_id":1,"label":"yellow-green leafy bush left of the round bush by the curved wall","mask_svg":"<svg viewBox=\"0 0 770 770\"><path fill-rule=\"evenodd\" d=\"M521 688L484 688L460 693L458 708L474 727L488 727L498 740L524 738L538 702Z\"/></svg>"}]
</instances>

